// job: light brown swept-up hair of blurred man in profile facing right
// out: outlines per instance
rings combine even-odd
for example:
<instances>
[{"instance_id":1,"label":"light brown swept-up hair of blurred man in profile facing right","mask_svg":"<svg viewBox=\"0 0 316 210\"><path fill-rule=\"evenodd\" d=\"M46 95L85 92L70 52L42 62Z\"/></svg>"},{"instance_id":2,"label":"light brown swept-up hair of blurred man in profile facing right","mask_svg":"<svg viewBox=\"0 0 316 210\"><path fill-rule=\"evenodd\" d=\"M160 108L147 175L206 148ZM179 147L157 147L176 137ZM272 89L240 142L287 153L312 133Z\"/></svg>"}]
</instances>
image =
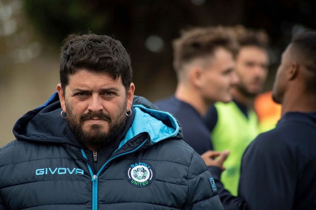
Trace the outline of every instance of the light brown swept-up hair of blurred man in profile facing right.
<instances>
[{"instance_id":1,"label":"light brown swept-up hair of blurred man in profile facing right","mask_svg":"<svg viewBox=\"0 0 316 210\"><path fill-rule=\"evenodd\" d=\"M212 56L223 47L236 54L238 45L231 34L222 26L193 28L181 31L181 36L173 41L173 67L177 74L183 66L194 59Z\"/></svg>"}]
</instances>

